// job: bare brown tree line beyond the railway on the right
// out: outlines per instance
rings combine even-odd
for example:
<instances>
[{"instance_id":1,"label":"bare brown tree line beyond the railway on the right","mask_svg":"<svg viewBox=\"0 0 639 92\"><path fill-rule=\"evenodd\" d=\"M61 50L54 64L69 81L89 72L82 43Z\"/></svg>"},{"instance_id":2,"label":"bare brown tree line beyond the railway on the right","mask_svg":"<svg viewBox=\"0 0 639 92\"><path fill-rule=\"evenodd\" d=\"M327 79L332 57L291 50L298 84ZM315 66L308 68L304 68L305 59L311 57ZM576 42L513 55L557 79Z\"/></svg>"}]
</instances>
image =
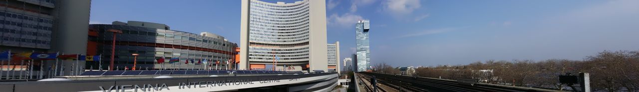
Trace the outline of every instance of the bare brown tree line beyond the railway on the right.
<instances>
[{"instance_id":1,"label":"bare brown tree line beyond the railway on the right","mask_svg":"<svg viewBox=\"0 0 639 92\"><path fill-rule=\"evenodd\" d=\"M386 63L374 68L373 72L399 72ZM422 77L473 78L491 84L546 89L566 89L558 76L588 72L593 91L639 91L639 51L603 51L584 60L487 60L468 65L419 67L415 71Z\"/></svg>"}]
</instances>

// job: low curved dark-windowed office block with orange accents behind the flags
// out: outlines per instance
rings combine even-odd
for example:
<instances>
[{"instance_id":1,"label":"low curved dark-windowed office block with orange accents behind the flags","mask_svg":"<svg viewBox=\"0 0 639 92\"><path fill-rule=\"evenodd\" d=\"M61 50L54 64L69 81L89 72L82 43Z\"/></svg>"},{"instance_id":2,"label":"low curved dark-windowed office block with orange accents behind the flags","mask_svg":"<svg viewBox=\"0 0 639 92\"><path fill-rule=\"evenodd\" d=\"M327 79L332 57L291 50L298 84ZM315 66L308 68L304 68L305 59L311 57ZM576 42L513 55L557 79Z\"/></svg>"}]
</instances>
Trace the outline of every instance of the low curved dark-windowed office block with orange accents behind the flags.
<instances>
[{"instance_id":1,"label":"low curved dark-windowed office block with orange accents behind the flags","mask_svg":"<svg viewBox=\"0 0 639 92\"><path fill-rule=\"evenodd\" d=\"M133 53L137 56L136 67L139 70L152 69L203 69L208 64L220 61L220 65L226 66L226 61L233 61L236 55L237 44L231 43L224 37L210 32L202 32L200 35L179 30L171 30L171 27L162 23L151 22L113 22L109 24L91 24L96 36L91 36L88 55L102 54L102 67L109 65L111 60L111 48L113 32L109 29L122 30L122 34L116 34L116 49L114 56L115 67L123 70L124 67L132 68L134 64ZM90 34L89 34L90 35ZM93 47L91 47L93 46ZM95 52L95 53L94 53ZM158 63L156 59L165 58L165 63ZM177 63L169 63L171 58L180 58ZM189 60L189 63L186 63ZM193 60L194 62L190 62ZM97 66L98 63L90 63ZM214 65L213 65L214 66ZM94 67L96 69L98 67Z\"/></svg>"}]
</instances>

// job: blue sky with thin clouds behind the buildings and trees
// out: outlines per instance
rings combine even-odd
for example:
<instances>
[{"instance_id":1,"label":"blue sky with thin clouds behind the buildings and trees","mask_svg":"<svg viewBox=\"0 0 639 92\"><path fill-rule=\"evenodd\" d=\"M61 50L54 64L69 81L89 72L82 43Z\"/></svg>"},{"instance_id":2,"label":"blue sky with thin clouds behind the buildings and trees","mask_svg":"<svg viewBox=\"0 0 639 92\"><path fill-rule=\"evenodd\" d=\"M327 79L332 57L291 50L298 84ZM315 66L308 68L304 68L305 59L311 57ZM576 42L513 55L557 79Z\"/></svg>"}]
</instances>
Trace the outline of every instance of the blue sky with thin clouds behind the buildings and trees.
<instances>
[{"instance_id":1,"label":"blue sky with thin clouds behind the buildings and trees","mask_svg":"<svg viewBox=\"0 0 639 92\"><path fill-rule=\"evenodd\" d=\"M266 0L274 3L277 0ZM279 0L286 3L295 0ZM301 0L297 0L301 1ZM639 50L639 1L327 0L327 43L355 52L355 23L370 20L371 63L397 67L486 60L583 60ZM164 23L240 40L238 0L93 0L89 23Z\"/></svg>"}]
</instances>

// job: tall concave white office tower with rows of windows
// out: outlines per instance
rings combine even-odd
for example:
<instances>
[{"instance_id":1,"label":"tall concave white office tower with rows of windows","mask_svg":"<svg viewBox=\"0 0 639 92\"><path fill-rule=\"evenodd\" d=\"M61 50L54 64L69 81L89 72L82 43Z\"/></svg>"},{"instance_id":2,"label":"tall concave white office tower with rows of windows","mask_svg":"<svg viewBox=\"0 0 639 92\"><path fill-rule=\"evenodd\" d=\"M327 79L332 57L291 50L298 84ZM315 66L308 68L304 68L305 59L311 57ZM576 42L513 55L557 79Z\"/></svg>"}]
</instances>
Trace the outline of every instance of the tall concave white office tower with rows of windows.
<instances>
[{"instance_id":1,"label":"tall concave white office tower with rows of windows","mask_svg":"<svg viewBox=\"0 0 639 92\"><path fill-rule=\"evenodd\" d=\"M239 69L328 70L325 0L242 0L240 20Z\"/></svg>"}]
</instances>

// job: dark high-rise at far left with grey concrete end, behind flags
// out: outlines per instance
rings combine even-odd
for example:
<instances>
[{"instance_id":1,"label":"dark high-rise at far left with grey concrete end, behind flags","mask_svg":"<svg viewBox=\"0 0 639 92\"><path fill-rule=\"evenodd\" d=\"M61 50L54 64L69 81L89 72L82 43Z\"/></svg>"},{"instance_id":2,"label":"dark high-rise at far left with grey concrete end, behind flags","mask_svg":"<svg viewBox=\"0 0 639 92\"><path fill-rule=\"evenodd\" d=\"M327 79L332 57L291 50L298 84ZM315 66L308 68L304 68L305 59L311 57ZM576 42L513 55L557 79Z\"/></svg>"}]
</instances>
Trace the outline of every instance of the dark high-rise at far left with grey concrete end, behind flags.
<instances>
[{"instance_id":1,"label":"dark high-rise at far left with grey concrete end, behind flags","mask_svg":"<svg viewBox=\"0 0 639 92\"><path fill-rule=\"evenodd\" d=\"M0 1L0 6L0 51L86 53L91 0L5 0ZM44 70L39 68L41 65L53 64L41 62L35 60L36 72Z\"/></svg>"}]
</instances>

